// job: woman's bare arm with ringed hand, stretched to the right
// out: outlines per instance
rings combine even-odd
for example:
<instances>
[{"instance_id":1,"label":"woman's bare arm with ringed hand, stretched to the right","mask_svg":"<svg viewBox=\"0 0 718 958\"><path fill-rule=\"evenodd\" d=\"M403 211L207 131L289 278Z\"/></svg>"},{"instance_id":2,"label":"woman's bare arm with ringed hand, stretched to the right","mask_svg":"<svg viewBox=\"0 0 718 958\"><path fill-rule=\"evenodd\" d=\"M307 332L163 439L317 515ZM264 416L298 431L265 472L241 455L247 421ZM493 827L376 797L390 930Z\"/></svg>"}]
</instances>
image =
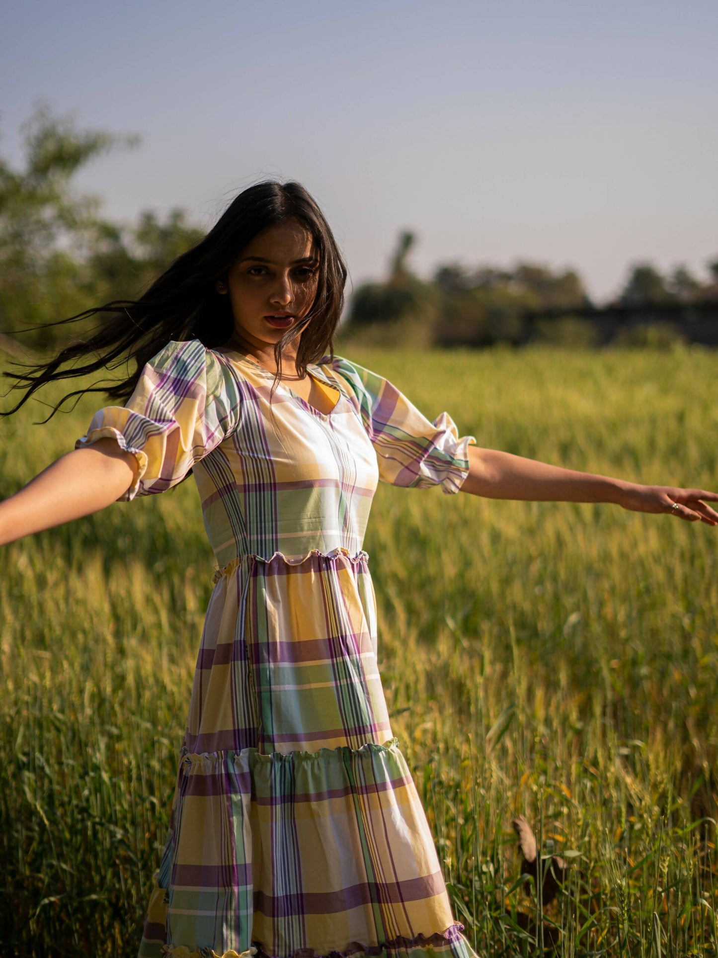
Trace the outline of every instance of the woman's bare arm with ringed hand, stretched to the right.
<instances>
[{"instance_id":1,"label":"woman's bare arm with ringed hand, stretched to the right","mask_svg":"<svg viewBox=\"0 0 718 958\"><path fill-rule=\"evenodd\" d=\"M461 491L472 495L533 502L612 502L637 513L675 513L687 522L700 519L709 526L718 524L718 513L707 505L718 502L718 492L639 486L476 445L469 446L468 458L469 473Z\"/></svg>"}]
</instances>

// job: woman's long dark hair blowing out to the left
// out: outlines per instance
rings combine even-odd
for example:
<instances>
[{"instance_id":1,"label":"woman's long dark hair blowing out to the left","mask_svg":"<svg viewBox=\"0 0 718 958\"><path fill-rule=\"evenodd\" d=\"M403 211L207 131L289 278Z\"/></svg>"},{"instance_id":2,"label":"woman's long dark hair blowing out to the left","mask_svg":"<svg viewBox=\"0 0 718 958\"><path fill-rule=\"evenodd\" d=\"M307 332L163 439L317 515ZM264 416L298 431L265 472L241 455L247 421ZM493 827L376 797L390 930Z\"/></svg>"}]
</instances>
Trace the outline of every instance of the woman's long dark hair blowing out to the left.
<instances>
[{"instance_id":1,"label":"woman's long dark hair blowing out to the left","mask_svg":"<svg viewBox=\"0 0 718 958\"><path fill-rule=\"evenodd\" d=\"M252 239L287 219L297 220L311 235L319 259L319 275L312 308L275 345L275 383L281 375L282 351L300 332L297 372L304 376L307 363L316 362L325 354L333 355L332 339L344 307L347 267L324 214L303 186L266 180L238 194L207 236L177 257L139 299L114 300L47 324L59 326L101 317L101 323L91 334L69 343L52 359L26 365L23 372L5 372L5 376L15 380L12 389L25 392L11 410L0 415L16 412L46 383L116 369L134 360L136 369L131 375L68 393L43 422L63 402L84 393L105 393L110 399L126 400L147 360L170 340L196 338L208 348L223 346L232 336L235 324L229 296L216 291L217 280L226 278L239 252Z\"/></svg>"}]
</instances>

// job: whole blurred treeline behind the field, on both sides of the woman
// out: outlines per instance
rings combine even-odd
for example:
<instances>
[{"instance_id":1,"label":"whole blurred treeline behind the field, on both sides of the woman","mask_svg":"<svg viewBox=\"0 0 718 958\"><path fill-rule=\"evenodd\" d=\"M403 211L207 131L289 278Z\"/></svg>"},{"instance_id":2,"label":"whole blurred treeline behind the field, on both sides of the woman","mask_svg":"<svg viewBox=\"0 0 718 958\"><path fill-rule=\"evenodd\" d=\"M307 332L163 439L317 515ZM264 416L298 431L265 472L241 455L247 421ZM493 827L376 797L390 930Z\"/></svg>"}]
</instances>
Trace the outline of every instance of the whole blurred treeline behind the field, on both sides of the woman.
<instances>
[{"instance_id":1,"label":"whole blurred treeline behind the field, on both sides of the woman","mask_svg":"<svg viewBox=\"0 0 718 958\"><path fill-rule=\"evenodd\" d=\"M84 166L135 146L136 138L81 130L42 107L24 135L20 169L0 157L0 335L47 350L82 327L45 324L136 297L203 231L180 208L164 218L146 211L134 223L113 222L102 215L100 199L73 189ZM414 242L402 233L386 279L354 290L343 335L420 346L676 338L718 344L718 259L707 264L704 281L684 266L664 276L639 263L616 302L598 308L575 270L537 263L446 263L422 280L408 265Z\"/></svg>"}]
</instances>

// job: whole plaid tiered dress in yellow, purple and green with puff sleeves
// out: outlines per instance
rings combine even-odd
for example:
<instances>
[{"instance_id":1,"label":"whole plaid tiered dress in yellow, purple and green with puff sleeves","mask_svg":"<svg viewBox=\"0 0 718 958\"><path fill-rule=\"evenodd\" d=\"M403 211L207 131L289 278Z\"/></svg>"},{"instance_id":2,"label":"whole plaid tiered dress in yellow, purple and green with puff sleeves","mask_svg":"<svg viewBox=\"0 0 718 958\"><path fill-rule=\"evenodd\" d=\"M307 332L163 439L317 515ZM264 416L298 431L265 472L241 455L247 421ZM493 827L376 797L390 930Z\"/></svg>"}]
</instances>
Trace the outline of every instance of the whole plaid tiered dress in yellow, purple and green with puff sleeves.
<instances>
[{"instance_id":1,"label":"whole plaid tiered dress in yellow, purple and green with puff sleeves","mask_svg":"<svg viewBox=\"0 0 718 958\"><path fill-rule=\"evenodd\" d=\"M310 364L319 412L252 358L170 342L78 446L192 469L218 563L140 955L473 958L393 738L362 549L379 479L456 492L467 446L391 382Z\"/></svg>"}]
</instances>

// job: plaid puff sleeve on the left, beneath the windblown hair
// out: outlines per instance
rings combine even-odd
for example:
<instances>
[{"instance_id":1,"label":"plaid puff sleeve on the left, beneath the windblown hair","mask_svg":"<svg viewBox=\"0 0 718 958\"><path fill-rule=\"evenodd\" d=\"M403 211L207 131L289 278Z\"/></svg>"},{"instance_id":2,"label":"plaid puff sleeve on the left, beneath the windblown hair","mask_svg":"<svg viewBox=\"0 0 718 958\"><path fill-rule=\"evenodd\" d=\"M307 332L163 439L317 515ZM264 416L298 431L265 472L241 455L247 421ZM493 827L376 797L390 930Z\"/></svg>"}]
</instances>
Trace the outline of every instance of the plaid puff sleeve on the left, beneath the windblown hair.
<instances>
[{"instance_id":1,"label":"plaid puff sleeve on the left, beneath the windblown hair","mask_svg":"<svg viewBox=\"0 0 718 958\"><path fill-rule=\"evenodd\" d=\"M231 367L198 339L171 341L146 363L124 406L105 406L76 448L114 438L137 460L118 501L176 486L238 423L240 391Z\"/></svg>"}]
</instances>

